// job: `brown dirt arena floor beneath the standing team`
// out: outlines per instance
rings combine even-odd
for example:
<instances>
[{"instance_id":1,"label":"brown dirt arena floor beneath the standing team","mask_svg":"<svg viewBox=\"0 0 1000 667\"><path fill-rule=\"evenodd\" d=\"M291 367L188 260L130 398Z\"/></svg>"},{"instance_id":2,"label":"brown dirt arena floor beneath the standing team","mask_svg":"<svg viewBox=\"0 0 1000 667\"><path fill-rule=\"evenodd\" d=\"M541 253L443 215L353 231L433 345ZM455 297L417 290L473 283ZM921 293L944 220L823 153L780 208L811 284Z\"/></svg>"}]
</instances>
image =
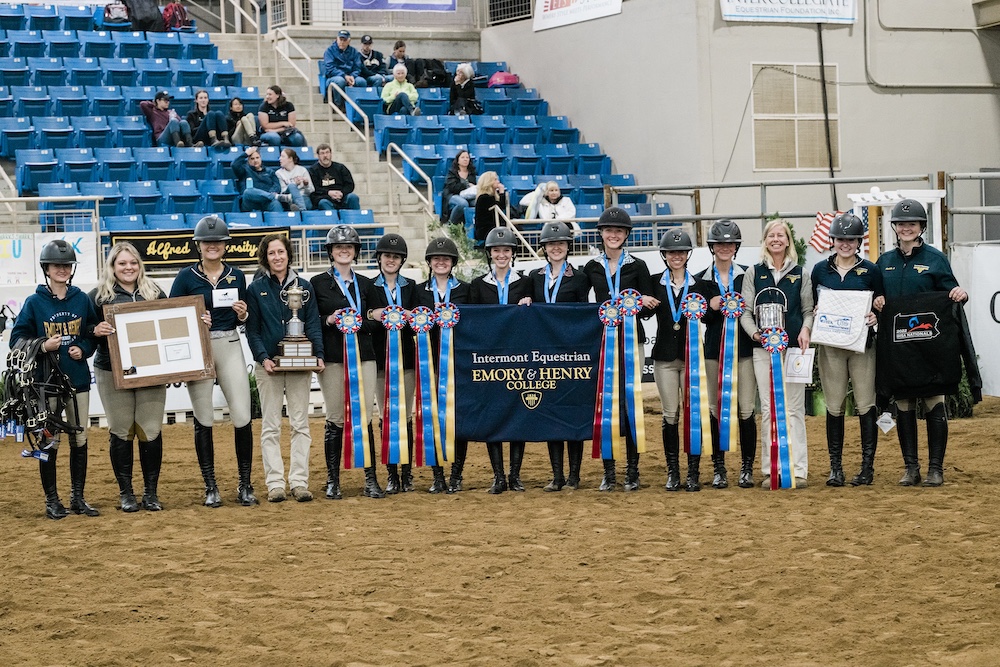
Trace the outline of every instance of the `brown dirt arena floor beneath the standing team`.
<instances>
[{"instance_id":1,"label":"brown dirt arena floor beneath the standing team","mask_svg":"<svg viewBox=\"0 0 1000 667\"><path fill-rule=\"evenodd\" d=\"M58 522L44 518L37 466L7 440L0 663L1000 664L1000 399L951 422L940 489L896 485L894 432L873 486L826 487L823 423L808 421L810 486L796 491L666 493L656 436L638 493L599 493L590 459L584 488L543 493L544 445L529 445L527 493L490 496L473 444L464 493L424 493L421 470L421 492L373 500L351 471L333 502L320 445L320 497L255 508L234 502L231 429L217 427L215 510L200 506L190 425L172 425L166 510L131 515L115 510L106 433L92 428L87 497L103 515ZM259 460L254 481L266 496Z\"/></svg>"}]
</instances>

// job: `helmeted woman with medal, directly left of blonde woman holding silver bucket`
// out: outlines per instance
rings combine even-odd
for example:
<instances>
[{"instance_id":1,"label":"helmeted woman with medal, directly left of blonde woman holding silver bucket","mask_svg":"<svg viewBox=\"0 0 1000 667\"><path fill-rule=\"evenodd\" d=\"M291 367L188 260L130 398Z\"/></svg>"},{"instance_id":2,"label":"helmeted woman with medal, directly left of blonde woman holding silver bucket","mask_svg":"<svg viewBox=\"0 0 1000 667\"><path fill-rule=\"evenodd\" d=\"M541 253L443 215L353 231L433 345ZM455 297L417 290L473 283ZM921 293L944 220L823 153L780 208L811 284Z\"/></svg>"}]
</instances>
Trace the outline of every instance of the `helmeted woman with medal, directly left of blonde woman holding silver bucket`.
<instances>
[{"instance_id":1,"label":"helmeted woman with medal, directly left of blonde woman holding silver bucket","mask_svg":"<svg viewBox=\"0 0 1000 667\"><path fill-rule=\"evenodd\" d=\"M740 228L732 220L719 220L708 231L708 250L712 253L712 264L700 273L695 273L696 280L706 280L715 283L720 296L709 301L713 311L721 311L723 294L743 293L743 281L746 279L749 267L737 264L736 253L742 243ZM705 330L705 373L709 378L718 381L708 383L708 405L712 420L712 451L719 451L719 392L721 390L719 365L723 351L724 318L711 319ZM736 374L737 383L734 387L737 395L736 409L739 414L740 441L740 478L741 489L753 488L753 464L757 456L757 420L754 418L754 407L757 403L757 381L753 374L753 350L756 343L743 327L736 324ZM716 457L715 476L712 486L724 488L729 484L724 460Z\"/></svg>"}]
</instances>

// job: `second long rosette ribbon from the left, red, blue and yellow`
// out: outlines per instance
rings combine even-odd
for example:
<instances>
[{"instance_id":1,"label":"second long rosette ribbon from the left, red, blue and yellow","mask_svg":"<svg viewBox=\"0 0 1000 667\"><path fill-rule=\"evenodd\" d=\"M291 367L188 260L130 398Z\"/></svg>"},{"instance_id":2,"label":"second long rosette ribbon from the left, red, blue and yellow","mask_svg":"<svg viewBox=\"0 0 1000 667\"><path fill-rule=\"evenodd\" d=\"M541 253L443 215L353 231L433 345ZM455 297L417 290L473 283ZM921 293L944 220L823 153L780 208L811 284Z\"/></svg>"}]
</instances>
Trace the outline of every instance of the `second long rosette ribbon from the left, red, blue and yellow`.
<instances>
[{"instance_id":1,"label":"second long rosette ribbon from the left, red, blue and yellow","mask_svg":"<svg viewBox=\"0 0 1000 667\"><path fill-rule=\"evenodd\" d=\"M403 392L403 345L399 333L406 326L406 309L402 306L383 308L382 326L386 329L382 463L408 465L410 449L406 444L409 441L406 399L400 395Z\"/></svg>"}]
</instances>

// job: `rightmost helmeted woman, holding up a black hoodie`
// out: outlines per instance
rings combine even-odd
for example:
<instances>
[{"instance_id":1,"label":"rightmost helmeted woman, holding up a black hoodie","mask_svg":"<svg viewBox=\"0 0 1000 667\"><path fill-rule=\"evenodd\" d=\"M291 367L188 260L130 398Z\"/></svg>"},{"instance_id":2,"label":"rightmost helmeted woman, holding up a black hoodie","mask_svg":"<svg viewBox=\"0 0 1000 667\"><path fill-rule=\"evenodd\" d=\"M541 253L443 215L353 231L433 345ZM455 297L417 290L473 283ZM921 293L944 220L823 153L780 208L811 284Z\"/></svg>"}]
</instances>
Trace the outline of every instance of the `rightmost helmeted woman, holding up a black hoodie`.
<instances>
[{"instance_id":1,"label":"rightmost helmeted woman, holding up a black hoodie","mask_svg":"<svg viewBox=\"0 0 1000 667\"><path fill-rule=\"evenodd\" d=\"M896 233L896 247L886 250L876 264L882 270L885 295L874 300L875 310L885 307L886 299L898 299L908 294L921 292L947 292L956 303L964 303L969 298L958 284L951 263L937 248L924 241L927 230L927 211L915 199L904 199L892 209L890 217L892 229ZM891 326L883 322L881 331L888 332ZM880 333L880 336L884 335ZM974 365L974 364L973 364ZM970 379L974 370L966 365ZM880 381L881 382L881 381ZM917 447L917 401L924 404L927 421L928 464L924 486L941 486L944 483L944 455L948 446L948 411L945 397L941 394L926 395L928 392L914 387L906 398L896 397L896 434L903 455L906 472L899 480L900 486L916 486L921 483L920 457Z\"/></svg>"}]
</instances>

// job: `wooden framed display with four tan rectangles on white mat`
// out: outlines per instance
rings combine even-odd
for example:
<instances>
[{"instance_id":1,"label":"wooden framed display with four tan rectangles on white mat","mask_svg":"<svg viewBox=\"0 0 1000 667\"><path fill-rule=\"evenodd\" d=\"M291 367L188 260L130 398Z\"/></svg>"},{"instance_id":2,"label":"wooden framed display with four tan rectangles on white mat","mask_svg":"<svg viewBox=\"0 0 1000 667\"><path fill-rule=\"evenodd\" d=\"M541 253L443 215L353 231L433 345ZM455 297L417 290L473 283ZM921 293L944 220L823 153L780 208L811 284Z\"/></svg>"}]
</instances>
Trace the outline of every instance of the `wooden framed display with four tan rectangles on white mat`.
<instances>
[{"instance_id":1,"label":"wooden framed display with four tan rectangles on white mat","mask_svg":"<svg viewBox=\"0 0 1000 667\"><path fill-rule=\"evenodd\" d=\"M115 328L108 336L115 388L214 378L204 314L205 299L200 296L104 306L104 318Z\"/></svg>"}]
</instances>

